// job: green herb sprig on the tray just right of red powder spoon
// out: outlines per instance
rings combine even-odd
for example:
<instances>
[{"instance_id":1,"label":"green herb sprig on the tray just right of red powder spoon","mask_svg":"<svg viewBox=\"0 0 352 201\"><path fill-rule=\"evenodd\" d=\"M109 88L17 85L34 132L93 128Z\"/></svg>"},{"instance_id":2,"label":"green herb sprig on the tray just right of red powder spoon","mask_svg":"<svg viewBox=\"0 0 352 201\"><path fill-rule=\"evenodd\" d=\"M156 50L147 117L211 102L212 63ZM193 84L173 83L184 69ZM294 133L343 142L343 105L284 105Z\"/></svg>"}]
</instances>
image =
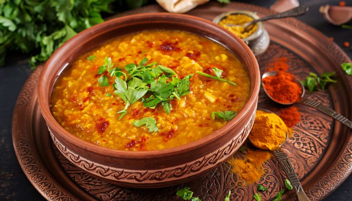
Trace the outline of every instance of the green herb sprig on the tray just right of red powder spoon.
<instances>
[{"instance_id":1,"label":"green herb sprig on the tray just right of red powder spoon","mask_svg":"<svg viewBox=\"0 0 352 201\"><path fill-rule=\"evenodd\" d=\"M310 92L313 92L315 90L318 90L318 85L321 87L322 90L325 89L325 86L327 83L332 82L336 83L337 81L332 79L331 77L334 76L336 73L335 72L326 72L320 75L320 77L313 73L310 72L309 75L306 77L305 80L302 80L301 83L308 88Z\"/></svg>"}]
</instances>

